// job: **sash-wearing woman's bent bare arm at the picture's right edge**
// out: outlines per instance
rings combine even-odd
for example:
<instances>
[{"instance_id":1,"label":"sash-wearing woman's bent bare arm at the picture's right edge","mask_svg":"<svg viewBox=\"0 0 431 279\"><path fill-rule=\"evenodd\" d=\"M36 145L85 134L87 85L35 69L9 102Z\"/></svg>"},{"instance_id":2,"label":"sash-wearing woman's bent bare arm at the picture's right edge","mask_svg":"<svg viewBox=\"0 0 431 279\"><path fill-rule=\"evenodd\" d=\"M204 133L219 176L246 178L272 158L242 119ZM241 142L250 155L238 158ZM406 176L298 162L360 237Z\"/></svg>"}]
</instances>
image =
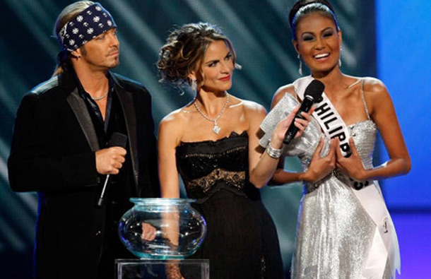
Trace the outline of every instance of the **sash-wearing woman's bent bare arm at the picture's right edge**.
<instances>
[{"instance_id":1,"label":"sash-wearing woman's bent bare arm at the picture's right edge","mask_svg":"<svg viewBox=\"0 0 431 279\"><path fill-rule=\"evenodd\" d=\"M386 87L375 78L367 78L364 90L370 115L379 128L390 159L379 167L365 170L352 144L353 155L350 158L337 154L337 167L358 181L407 174L411 169L411 160Z\"/></svg>"}]
</instances>

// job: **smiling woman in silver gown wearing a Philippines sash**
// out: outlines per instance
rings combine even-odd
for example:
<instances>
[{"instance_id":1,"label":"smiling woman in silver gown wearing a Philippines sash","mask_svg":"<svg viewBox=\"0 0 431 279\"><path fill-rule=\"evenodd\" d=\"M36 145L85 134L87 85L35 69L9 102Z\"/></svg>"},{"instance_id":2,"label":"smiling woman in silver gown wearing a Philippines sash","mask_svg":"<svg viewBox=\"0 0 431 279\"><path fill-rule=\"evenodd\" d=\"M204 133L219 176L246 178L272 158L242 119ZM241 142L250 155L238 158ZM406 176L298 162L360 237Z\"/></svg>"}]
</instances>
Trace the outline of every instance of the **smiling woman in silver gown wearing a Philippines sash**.
<instances>
[{"instance_id":1,"label":"smiling woman in silver gown wearing a Philippines sash","mask_svg":"<svg viewBox=\"0 0 431 279\"><path fill-rule=\"evenodd\" d=\"M400 268L398 241L374 179L406 174L411 161L391 97L376 78L341 72L341 30L328 1L298 1L290 25L298 57L311 76L276 92L261 124L266 133L261 146L313 79L325 85L304 134L283 149L283 155L300 158L304 172L287 172L280 160L273 176L276 184L305 183L292 278L394 278ZM377 130L390 159L373 167Z\"/></svg>"}]
</instances>

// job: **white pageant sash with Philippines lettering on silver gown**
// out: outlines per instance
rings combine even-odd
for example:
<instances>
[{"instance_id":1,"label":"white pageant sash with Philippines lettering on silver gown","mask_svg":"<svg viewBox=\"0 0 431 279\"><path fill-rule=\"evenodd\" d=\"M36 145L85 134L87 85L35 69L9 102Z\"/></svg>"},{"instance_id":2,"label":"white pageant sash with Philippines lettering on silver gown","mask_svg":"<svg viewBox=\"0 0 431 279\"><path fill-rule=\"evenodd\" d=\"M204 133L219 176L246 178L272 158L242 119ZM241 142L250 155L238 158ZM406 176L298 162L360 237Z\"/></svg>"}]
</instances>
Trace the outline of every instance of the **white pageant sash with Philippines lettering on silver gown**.
<instances>
[{"instance_id":1,"label":"white pageant sash with Philippines lettering on silver gown","mask_svg":"<svg viewBox=\"0 0 431 279\"><path fill-rule=\"evenodd\" d=\"M306 76L297 79L293 83L295 92L301 100L304 98L305 88L313 79L312 76ZM347 126L325 93L322 93L322 97L323 100L317 104L317 108L312 115L319 122L326 137L338 137L340 139L340 148L343 155L349 154L350 146L348 141L350 133ZM367 184L368 186L359 190L352 187L356 198L358 198L358 201L376 225L372 249L370 249L365 261L362 278L382 278L386 268L386 261L388 260L390 261L389 266L393 268L392 273L395 273L395 268L399 270L398 241L396 240L394 225L377 182L365 182L365 185Z\"/></svg>"}]
</instances>

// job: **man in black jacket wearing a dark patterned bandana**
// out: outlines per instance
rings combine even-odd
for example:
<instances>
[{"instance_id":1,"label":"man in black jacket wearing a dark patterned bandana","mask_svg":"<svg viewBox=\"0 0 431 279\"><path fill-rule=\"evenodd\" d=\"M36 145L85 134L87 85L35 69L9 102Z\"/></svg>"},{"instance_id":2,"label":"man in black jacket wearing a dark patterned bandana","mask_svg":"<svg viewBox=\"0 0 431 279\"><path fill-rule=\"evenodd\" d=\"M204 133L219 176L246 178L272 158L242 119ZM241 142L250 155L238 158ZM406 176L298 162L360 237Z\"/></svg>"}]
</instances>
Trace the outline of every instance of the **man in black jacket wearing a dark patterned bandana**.
<instances>
[{"instance_id":1,"label":"man in black jacket wearing a dark patterned bandana","mask_svg":"<svg viewBox=\"0 0 431 279\"><path fill-rule=\"evenodd\" d=\"M129 198L159 196L150 95L110 72L116 32L98 3L64 8L54 76L16 114L8 174L39 196L35 278L114 278L114 259L133 257L117 234Z\"/></svg>"}]
</instances>

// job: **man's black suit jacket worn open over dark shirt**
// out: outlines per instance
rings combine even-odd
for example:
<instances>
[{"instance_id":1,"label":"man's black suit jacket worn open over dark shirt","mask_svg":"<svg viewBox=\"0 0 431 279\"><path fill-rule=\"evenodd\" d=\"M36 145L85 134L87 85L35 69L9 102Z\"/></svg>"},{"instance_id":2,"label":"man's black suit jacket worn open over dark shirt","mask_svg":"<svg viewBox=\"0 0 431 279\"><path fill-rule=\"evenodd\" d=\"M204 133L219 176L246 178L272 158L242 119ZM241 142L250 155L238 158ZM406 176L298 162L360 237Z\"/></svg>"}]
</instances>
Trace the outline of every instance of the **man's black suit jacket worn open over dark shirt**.
<instances>
[{"instance_id":1,"label":"man's black suit jacket worn open over dark shirt","mask_svg":"<svg viewBox=\"0 0 431 279\"><path fill-rule=\"evenodd\" d=\"M38 85L18 108L8 159L13 191L37 191L37 278L95 278L105 210L95 206L99 150L73 70ZM151 98L140 84L112 73L128 131L136 193L159 196Z\"/></svg>"}]
</instances>

